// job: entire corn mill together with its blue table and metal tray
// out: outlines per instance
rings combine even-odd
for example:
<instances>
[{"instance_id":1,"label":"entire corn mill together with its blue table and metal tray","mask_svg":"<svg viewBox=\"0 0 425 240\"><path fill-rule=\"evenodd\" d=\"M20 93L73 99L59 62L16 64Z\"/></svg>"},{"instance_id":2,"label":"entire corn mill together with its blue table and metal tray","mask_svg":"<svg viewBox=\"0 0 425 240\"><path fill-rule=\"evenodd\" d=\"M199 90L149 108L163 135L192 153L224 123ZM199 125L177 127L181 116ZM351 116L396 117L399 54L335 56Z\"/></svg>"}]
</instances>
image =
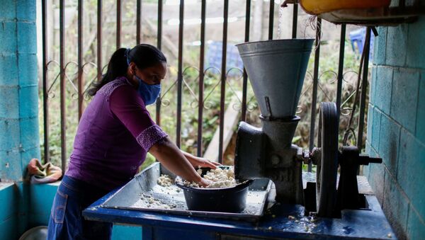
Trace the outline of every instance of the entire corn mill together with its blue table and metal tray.
<instances>
[{"instance_id":1,"label":"entire corn mill together with its blue table and metal tray","mask_svg":"<svg viewBox=\"0 0 425 240\"><path fill-rule=\"evenodd\" d=\"M244 210L188 209L176 185L157 185L162 174L176 176L156 163L94 202L84 217L142 226L142 239L395 239L368 181L357 176L360 165L382 160L359 154L356 147L339 149L335 103L320 104L312 152L292 144L313 42L237 45L262 122L261 128L240 122L237 131L235 178L250 183ZM317 166L315 174L302 171L309 163Z\"/></svg>"}]
</instances>

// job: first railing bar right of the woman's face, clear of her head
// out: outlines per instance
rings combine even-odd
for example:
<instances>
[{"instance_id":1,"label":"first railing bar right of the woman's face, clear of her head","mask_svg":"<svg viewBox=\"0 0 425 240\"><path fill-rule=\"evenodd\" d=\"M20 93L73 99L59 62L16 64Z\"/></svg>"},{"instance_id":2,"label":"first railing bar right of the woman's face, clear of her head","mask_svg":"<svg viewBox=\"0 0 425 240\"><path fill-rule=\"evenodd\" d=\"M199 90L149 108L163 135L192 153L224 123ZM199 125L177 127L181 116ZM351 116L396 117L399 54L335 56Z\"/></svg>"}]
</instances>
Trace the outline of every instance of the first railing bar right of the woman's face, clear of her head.
<instances>
[{"instance_id":1,"label":"first railing bar right of the woman's face, clear of her head","mask_svg":"<svg viewBox=\"0 0 425 240\"><path fill-rule=\"evenodd\" d=\"M180 147L181 142L181 95L183 84L183 19L184 19L184 0L180 1L179 11L179 71L177 76L177 126L176 126L176 144Z\"/></svg>"}]
</instances>

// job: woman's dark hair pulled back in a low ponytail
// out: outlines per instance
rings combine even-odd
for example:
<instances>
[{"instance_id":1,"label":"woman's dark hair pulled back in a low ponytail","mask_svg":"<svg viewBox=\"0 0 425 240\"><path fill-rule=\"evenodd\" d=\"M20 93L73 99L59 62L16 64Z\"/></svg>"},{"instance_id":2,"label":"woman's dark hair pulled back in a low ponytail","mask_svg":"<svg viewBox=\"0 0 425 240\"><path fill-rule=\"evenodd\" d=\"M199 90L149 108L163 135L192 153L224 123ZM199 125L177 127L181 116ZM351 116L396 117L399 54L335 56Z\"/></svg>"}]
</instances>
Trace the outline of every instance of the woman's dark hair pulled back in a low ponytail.
<instances>
[{"instance_id":1,"label":"woman's dark hair pulled back in a low ponytail","mask_svg":"<svg viewBox=\"0 0 425 240\"><path fill-rule=\"evenodd\" d=\"M108 70L106 74L103 74L101 81L91 84L91 88L89 88L87 94L94 96L108 82L120 76L127 75L127 68L130 62L134 62L138 69L145 69L159 62L166 62L166 57L157 47L149 44L136 45L132 49L120 48L111 56L108 63Z\"/></svg>"}]
</instances>

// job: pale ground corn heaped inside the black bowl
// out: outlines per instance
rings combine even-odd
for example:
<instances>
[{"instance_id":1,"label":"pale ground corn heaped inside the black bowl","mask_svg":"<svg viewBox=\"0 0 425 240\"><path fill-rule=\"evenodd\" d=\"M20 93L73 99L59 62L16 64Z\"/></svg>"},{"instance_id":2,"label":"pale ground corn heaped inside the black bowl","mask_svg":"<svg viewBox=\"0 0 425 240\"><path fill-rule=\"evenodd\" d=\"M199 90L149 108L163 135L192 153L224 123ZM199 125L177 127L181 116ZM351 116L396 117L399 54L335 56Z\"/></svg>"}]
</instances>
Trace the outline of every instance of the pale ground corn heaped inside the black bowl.
<instances>
[{"instance_id":1,"label":"pale ground corn heaped inside the black bowl","mask_svg":"<svg viewBox=\"0 0 425 240\"><path fill-rule=\"evenodd\" d=\"M229 188L237 185L234 180L234 171L233 168L222 169L216 168L208 171L203 178L212 181L210 185L206 188ZM184 181L184 185L188 185L190 187L199 188L198 183L189 183L188 181Z\"/></svg>"}]
</instances>

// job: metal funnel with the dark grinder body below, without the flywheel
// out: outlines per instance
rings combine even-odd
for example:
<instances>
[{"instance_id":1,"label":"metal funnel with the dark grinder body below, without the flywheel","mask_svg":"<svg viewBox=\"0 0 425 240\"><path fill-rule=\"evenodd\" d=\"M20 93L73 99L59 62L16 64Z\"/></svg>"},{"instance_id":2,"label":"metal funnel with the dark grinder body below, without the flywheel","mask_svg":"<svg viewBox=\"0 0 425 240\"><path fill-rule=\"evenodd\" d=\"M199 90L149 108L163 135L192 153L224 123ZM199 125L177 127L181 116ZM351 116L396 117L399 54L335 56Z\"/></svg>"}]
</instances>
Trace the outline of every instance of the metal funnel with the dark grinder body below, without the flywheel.
<instances>
[{"instance_id":1,"label":"metal funnel with the dark grinder body below, without the flywheel","mask_svg":"<svg viewBox=\"0 0 425 240\"><path fill-rule=\"evenodd\" d=\"M312 39L268 40L237 45L261 110L261 129L239 124L235 174L239 179L270 178L276 200L303 203L302 149L292 144L295 116Z\"/></svg>"}]
</instances>

